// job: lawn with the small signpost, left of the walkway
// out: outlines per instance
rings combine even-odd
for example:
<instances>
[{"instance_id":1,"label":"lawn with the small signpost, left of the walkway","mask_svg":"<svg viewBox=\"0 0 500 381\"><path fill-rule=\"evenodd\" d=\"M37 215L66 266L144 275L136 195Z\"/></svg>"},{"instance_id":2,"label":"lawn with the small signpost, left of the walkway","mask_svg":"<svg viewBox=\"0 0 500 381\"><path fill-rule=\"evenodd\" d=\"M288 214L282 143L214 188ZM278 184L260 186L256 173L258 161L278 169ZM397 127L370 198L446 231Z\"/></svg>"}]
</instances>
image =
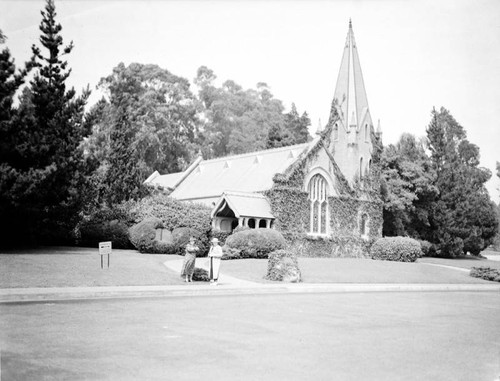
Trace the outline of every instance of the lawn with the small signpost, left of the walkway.
<instances>
[{"instance_id":1,"label":"lawn with the small signpost, left of the walkway","mask_svg":"<svg viewBox=\"0 0 500 381\"><path fill-rule=\"evenodd\" d=\"M181 284L179 274L163 262L172 255L146 255L113 250L110 267L98 249L55 247L0 253L0 288L146 286Z\"/></svg>"}]
</instances>

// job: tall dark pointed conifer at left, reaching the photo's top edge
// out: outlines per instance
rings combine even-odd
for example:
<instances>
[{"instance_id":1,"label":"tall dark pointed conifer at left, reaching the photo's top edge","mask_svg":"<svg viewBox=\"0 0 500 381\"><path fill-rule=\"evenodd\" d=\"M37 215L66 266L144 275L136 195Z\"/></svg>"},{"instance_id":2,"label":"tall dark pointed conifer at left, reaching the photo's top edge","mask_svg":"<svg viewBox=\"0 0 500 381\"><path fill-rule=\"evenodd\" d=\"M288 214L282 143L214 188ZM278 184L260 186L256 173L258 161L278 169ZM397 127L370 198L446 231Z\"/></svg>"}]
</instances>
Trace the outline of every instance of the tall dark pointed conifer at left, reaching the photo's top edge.
<instances>
[{"instance_id":1,"label":"tall dark pointed conifer at left, reaching the photo's top edge","mask_svg":"<svg viewBox=\"0 0 500 381\"><path fill-rule=\"evenodd\" d=\"M41 14L40 43L46 52L32 46L37 71L11 118L11 153L2 164L2 219L25 239L61 242L69 239L82 202L79 145L87 133L83 113L89 92L76 97L74 89L66 89L71 70L62 56L73 44L63 47L53 0Z\"/></svg>"}]
</instances>

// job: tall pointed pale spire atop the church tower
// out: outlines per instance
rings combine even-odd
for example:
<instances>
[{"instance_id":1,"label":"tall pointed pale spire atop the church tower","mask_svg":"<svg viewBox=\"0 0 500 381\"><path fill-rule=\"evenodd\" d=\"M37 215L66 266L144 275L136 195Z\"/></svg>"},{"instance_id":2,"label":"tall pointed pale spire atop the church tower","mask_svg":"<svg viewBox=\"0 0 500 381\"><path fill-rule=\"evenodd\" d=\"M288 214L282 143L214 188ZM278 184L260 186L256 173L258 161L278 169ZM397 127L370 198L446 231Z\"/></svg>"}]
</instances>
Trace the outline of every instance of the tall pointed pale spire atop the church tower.
<instances>
[{"instance_id":1,"label":"tall pointed pale spire atop the church tower","mask_svg":"<svg viewBox=\"0 0 500 381\"><path fill-rule=\"evenodd\" d=\"M351 19L349 19L349 29L340 63L334 98L337 99L340 120L346 130L351 125L356 125L357 130L365 123L371 125L368 99L366 97L365 84L363 74L361 73Z\"/></svg>"}]
</instances>

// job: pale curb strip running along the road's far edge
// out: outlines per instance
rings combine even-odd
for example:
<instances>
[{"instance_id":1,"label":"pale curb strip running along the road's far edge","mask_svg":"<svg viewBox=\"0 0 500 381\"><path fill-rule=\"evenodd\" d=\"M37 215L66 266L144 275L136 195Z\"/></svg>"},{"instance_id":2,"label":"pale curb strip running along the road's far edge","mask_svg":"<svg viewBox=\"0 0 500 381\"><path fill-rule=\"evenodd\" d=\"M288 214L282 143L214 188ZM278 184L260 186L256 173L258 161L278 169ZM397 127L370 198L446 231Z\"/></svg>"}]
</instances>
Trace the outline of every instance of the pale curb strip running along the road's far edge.
<instances>
[{"instance_id":1,"label":"pale curb strip running along the road's far edge","mask_svg":"<svg viewBox=\"0 0 500 381\"><path fill-rule=\"evenodd\" d=\"M0 304L97 299L371 292L499 292L500 284L255 284L0 289Z\"/></svg>"}]
</instances>

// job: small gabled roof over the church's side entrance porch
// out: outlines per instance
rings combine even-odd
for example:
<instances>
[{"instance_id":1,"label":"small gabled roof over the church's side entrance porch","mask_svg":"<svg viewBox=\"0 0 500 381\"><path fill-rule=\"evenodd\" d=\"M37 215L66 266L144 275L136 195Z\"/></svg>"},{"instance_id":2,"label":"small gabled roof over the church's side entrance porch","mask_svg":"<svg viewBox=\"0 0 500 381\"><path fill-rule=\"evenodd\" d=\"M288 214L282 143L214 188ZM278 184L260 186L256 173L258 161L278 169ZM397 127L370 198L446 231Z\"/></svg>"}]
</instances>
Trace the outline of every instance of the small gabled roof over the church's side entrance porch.
<instances>
[{"instance_id":1,"label":"small gabled roof over the church's side entrance porch","mask_svg":"<svg viewBox=\"0 0 500 381\"><path fill-rule=\"evenodd\" d=\"M258 193L224 192L212 209L211 217L214 218L226 205L231 208L236 218L274 218L269 201Z\"/></svg>"}]
</instances>

